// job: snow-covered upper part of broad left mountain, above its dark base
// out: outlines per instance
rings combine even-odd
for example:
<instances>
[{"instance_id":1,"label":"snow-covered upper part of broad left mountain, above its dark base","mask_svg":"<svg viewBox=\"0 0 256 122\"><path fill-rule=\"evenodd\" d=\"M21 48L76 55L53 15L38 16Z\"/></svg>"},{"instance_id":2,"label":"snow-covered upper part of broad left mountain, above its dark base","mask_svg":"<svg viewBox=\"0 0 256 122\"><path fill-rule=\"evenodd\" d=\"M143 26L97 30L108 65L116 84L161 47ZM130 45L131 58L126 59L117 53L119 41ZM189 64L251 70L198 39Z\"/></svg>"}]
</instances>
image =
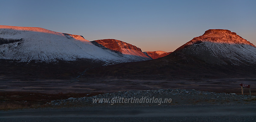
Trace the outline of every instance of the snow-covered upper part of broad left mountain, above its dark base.
<instances>
[{"instance_id":1,"label":"snow-covered upper part of broad left mountain, above its dark base","mask_svg":"<svg viewBox=\"0 0 256 122\"><path fill-rule=\"evenodd\" d=\"M127 62L95 45L83 36L58 33L44 28L0 25L0 59L52 62L92 59Z\"/></svg>"}]
</instances>

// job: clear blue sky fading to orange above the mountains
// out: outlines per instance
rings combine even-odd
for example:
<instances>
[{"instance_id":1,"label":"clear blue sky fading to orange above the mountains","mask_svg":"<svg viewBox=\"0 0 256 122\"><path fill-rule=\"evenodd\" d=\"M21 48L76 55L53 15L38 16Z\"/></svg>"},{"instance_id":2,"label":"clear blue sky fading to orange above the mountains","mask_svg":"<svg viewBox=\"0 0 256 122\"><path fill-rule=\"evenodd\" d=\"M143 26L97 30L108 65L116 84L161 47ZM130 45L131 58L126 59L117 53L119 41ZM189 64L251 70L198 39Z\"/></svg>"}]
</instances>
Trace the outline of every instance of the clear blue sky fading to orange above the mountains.
<instances>
[{"instance_id":1,"label":"clear blue sky fading to orange above the mountains","mask_svg":"<svg viewBox=\"0 0 256 122\"><path fill-rule=\"evenodd\" d=\"M174 51L208 29L256 45L256 0L0 0L0 25L118 39L142 51Z\"/></svg>"}]
</instances>

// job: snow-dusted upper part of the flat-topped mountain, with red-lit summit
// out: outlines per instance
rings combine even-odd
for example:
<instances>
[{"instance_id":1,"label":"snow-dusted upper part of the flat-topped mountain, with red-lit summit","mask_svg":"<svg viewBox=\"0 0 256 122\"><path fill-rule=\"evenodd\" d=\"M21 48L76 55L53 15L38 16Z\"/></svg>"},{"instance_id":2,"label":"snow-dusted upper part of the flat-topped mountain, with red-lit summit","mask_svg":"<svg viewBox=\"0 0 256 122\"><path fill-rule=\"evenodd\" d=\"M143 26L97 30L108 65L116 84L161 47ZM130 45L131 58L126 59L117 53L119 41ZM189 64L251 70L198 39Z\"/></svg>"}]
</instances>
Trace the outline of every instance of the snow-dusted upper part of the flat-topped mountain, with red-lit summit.
<instances>
[{"instance_id":1,"label":"snow-dusted upper part of the flat-topped mountain, with red-lit summit","mask_svg":"<svg viewBox=\"0 0 256 122\"><path fill-rule=\"evenodd\" d=\"M236 33L223 29L205 31L173 53L183 53L210 64L256 64L256 47Z\"/></svg>"}]
</instances>

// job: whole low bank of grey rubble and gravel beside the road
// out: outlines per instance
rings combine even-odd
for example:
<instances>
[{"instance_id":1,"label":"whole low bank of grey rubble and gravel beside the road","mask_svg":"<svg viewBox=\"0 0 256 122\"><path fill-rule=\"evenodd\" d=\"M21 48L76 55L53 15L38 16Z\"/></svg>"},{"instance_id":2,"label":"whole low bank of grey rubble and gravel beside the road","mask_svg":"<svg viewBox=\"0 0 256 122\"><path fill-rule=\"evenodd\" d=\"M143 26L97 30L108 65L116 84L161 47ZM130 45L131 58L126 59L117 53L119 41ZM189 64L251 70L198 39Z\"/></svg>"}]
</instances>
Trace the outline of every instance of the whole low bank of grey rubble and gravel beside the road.
<instances>
[{"instance_id":1,"label":"whole low bank of grey rubble and gravel beside the road","mask_svg":"<svg viewBox=\"0 0 256 122\"><path fill-rule=\"evenodd\" d=\"M97 99L98 98L98 99ZM100 101L101 98L107 98L109 101L106 103ZM124 102L125 98L130 102ZM143 101L132 101L138 98L145 98ZM156 103L146 103L146 99L160 99L161 103L157 100ZM120 99L120 100L119 100ZM123 99L123 102L122 102ZM164 100L168 99L168 102ZM95 100L97 100L95 102ZM132 102L131 102L132 101ZM164 102L164 103L163 103ZM158 89L158 90L143 90L143 91L118 91L115 93L98 94L92 97L70 97L64 100L53 100L47 103L51 106L84 106L84 105L96 105L96 104L118 104L118 105L146 105L146 106L158 106L158 105L238 105L238 104L256 104L256 97L250 95L238 95L235 93L215 93L208 91L196 91L194 89Z\"/></svg>"}]
</instances>

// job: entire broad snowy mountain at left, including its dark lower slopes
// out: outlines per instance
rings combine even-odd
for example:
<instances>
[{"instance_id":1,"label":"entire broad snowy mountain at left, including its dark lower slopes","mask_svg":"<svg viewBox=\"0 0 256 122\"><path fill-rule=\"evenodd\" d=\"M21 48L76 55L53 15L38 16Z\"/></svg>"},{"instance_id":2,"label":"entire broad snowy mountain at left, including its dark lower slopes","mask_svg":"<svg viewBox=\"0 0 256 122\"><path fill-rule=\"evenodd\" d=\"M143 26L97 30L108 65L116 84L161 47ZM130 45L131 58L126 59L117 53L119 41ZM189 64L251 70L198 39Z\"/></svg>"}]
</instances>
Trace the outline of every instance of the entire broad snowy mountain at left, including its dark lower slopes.
<instances>
[{"instance_id":1,"label":"entire broad snowy mountain at left, including its dark lower slopes","mask_svg":"<svg viewBox=\"0 0 256 122\"><path fill-rule=\"evenodd\" d=\"M37 77L72 78L90 68L138 61L136 58L147 59L142 55L132 60L127 57L101 49L83 36L44 28L0 25L2 77L25 80Z\"/></svg>"}]
</instances>

